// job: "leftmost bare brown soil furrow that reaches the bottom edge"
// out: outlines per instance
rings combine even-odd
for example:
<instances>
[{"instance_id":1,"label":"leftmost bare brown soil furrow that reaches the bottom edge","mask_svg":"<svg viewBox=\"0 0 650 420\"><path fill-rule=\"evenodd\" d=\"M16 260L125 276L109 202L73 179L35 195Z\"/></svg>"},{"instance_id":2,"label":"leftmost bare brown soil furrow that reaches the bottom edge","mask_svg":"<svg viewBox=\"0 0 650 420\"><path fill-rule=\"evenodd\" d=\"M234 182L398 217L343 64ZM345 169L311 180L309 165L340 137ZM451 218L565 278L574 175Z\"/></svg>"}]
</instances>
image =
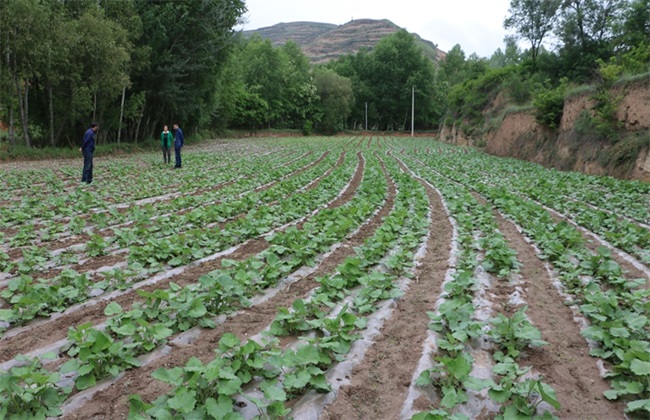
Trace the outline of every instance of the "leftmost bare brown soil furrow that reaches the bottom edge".
<instances>
[{"instance_id":1,"label":"leftmost bare brown soil furrow that reaches the bottom edge","mask_svg":"<svg viewBox=\"0 0 650 420\"><path fill-rule=\"evenodd\" d=\"M358 156L362 159L360 153ZM361 171L357 171L357 173L361 173ZM387 177L387 174L384 173L384 176ZM360 181L361 178L355 174L355 180L348 189L350 194L354 193ZM231 332L240 339L245 340L247 337L262 331L274 318L278 307L290 307L295 299L305 298L311 290L319 286L319 283L314 281L315 278L332 272L346 257L353 255L353 247L361 245L379 227L383 217L390 212L393 206L395 186L392 184L392 181L389 180L389 182L388 198L379 213L321 262L316 272L285 288L263 304L241 310L226 323L218 325L214 330L203 330L200 337L192 343L191 347L173 347L170 355L156 360L151 365L139 368L137 371L127 371L123 378L111 385L108 389L97 393L92 401L79 410L65 416L65 418L126 418L129 408L127 401L128 395L138 393L142 396L143 400L153 401L157 396L168 391L165 384L151 377L151 373L159 367L182 366L190 357L198 357L204 362L207 362L214 357L214 349L217 348L218 341L224 333ZM346 192L345 195L348 195L348 193ZM351 195L347 199L341 197L339 204L344 204L349 198L351 198Z\"/></svg>"}]
</instances>

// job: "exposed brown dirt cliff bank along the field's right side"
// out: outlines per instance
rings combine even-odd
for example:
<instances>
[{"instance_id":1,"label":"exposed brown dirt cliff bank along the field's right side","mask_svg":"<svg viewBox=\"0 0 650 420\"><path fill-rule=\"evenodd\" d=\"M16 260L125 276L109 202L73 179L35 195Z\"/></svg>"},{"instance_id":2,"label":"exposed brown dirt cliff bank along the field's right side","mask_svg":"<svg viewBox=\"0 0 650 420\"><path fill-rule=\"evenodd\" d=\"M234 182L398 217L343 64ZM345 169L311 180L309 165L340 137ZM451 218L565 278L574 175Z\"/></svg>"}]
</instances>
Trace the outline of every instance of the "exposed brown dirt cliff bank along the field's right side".
<instances>
[{"instance_id":1,"label":"exposed brown dirt cliff bank along the field's right side","mask_svg":"<svg viewBox=\"0 0 650 420\"><path fill-rule=\"evenodd\" d=\"M621 131L613 139L585 133L585 113L592 113L591 93L568 97L560 127L550 130L537 123L532 110L505 112L485 140L468 139L454 127L440 137L460 145L484 146L486 152L540 163L561 170L650 181L650 82L645 79L612 90L617 98ZM487 113L503 106L497 98Z\"/></svg>"}]
</instances>

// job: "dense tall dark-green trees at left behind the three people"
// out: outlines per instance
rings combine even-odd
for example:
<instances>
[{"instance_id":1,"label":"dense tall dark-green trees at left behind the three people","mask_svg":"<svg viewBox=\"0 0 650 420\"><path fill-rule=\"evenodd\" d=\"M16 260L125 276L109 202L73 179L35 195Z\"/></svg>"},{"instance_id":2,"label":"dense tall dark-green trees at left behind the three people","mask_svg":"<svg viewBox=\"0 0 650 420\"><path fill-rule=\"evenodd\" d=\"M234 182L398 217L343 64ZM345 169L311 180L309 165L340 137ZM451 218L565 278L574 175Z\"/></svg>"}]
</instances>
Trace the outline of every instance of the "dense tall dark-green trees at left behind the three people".
<instances>
[{"instance_id":1,"label":"dense tall dark-green trees at left behind the three people","mask_svg":"<svg viewBox=\"0 0 650 420\"><path fill-rule=\"evenodd\" d=\"M138 139L215 119L242 0L0 2L0 120L12 144ZM14 132L14 127L16 131Z\"/></svg>"}]
</instances>

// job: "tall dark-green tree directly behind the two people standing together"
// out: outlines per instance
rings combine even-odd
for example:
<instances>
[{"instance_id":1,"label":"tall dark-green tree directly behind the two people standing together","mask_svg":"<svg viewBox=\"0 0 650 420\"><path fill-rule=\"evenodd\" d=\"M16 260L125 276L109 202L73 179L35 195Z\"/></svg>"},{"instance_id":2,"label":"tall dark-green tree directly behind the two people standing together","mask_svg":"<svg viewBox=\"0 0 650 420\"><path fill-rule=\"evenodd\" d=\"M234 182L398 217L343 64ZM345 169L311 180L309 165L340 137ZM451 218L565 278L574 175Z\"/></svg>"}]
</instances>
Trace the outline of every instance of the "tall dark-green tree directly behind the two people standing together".
<instances>
[{"instance_id":1,"label":"tall dark-green tree directly behind the two people standing together","mask_svg":"<svg viewBox=\"0 0 650 420\"><path fill-rule=\"evenodd\" d=\"M233 28L246 11L243 0L138 0L136 5L143 28L137 46L148 50L143 59L148 65L132 72L131 95L144 94L133 135L156 135L170 121L187 133L214 125L218 80Z\"/></svg>"}]
</instances>

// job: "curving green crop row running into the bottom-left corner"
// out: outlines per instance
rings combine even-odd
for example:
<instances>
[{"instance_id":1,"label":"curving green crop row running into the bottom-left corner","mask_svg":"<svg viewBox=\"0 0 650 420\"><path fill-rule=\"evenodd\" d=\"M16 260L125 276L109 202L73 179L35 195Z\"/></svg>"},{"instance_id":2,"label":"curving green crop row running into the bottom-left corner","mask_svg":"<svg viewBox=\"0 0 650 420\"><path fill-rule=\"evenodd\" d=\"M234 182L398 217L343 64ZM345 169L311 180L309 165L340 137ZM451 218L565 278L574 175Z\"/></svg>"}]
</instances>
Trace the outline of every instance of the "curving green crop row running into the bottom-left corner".
<instances>
[{"instance_id":1,"label":"curving green crop row running into the bottom-left corner","mask_svg":"<svg viewBox=\"0 0 650 420\"><path fill-rule=\"evenodd\" d=\"M72 374L77 390L92 387L98 380L139 366L137 356L163 345L171 335L195 326L213 327L215 317L249 305L254 294L342 240L372 214L385 197L386 184L376 164L366 170L357 195L341 207L319 212L305 223L304 232L289 229L273 235L271 246L262 253L243 262L225 261L223 269L201 276L196 284L170 283L168 289L140 291L143 302L128 311L109 304L104 330L89 324L71 328L69 360L58 373L49 373L34 359L27 366L11 368L0 381L7 384L0 392L0 414L59 415L61 403L72 391L62 386L66 382L60 382L61 375ZM30 385L39 380L45 383Z\"/></svg>"}]
</instances>

